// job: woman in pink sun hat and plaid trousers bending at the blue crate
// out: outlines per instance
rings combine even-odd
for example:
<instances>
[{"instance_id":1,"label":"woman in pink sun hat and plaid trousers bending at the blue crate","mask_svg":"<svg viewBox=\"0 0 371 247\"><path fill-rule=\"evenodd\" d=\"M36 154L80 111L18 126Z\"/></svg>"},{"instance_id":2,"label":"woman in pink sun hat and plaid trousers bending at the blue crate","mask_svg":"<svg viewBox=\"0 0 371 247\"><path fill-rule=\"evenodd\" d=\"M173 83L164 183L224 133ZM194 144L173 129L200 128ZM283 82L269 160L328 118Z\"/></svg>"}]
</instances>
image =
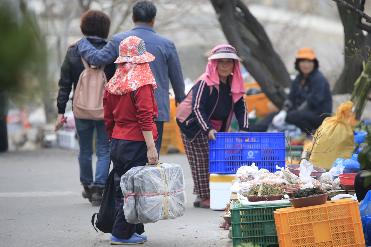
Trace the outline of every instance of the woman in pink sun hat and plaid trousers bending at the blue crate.
<instances>
[{"instance_id":1,"label":"woman in pink sun hat and plaid trousers bending at the blue crate","mask_svg":"<svg viewBox=\"0 0 371 247\"><path fill-rule=\"evenodd\" d=\"M210 208L209 139L214 133L227 132L233 113L239 132L247 132L249 116L243 97L245 87L236 49L218 45L212 51L206 73L200 76L177 109L185 152L194 181L194 207Z\"/></svg>"}]
</instances>

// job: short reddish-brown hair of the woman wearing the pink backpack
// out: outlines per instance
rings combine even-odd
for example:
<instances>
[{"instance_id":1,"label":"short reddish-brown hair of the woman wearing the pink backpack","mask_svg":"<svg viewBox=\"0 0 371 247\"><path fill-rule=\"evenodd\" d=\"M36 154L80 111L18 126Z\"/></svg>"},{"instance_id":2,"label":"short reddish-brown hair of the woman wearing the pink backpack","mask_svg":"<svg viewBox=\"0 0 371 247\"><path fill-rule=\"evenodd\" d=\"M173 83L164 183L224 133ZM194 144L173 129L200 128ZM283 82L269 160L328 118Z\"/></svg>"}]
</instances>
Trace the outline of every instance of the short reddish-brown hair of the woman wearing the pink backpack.
<instances>
[{"instance_id":1,"label":"short reddish-brown hair of the woman wearing the pink backpack","mask_svg":"<svg viewBox=\"0 0 371 247\"><path fill-rule=\"evenodd\" d=\"M111 19L99 10L88 10L81 17L81 32L85 36L98 36L107 39Z\"/></svg>"}]
</instances>

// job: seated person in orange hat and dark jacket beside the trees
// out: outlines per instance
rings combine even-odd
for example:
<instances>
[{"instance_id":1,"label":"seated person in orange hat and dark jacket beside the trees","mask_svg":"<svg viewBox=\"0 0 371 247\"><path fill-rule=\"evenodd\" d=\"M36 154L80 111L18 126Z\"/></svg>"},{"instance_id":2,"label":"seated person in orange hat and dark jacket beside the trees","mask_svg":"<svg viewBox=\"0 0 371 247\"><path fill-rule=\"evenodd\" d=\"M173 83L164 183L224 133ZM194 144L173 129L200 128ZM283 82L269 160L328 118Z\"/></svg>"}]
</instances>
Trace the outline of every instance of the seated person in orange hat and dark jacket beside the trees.
<instances>
[{"instance_id":1,"label":"seated person in orange hat and dark jacket beside the trees","mask_svg":"<svg viewBox=\"0 0 371 247\"><path fill-rule=\"evenodd\" d=\"M318 70L318 60L313 50L303 47L296 56L295 69L299 75L293 80L290 93L280 112L271 112L250 126L251 132L265 132L271 122L290 123L308 134L317 129L332 112L329 83Z\"/></svg>"}]
</instances>

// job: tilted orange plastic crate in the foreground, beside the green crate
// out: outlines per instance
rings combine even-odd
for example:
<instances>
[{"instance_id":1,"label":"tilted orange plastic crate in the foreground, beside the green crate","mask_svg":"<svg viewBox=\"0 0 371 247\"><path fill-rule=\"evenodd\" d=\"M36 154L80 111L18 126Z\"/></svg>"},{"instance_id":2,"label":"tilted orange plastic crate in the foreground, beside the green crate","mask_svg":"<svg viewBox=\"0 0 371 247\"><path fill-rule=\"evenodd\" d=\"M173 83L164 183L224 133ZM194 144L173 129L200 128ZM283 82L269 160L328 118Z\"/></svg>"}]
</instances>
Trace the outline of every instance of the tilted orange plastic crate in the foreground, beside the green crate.
<instances>
[{"instance_id":1,"label":"tilted orange plastic crate in the foreground, beside the green crate","mask_svg":"<svg viewBox=\"0 0 371 247\"><path fill-rule=\"evenodd\" d=\"M328 201L305 208L274 212L280 247L364 247L358 202Z\"/></svg>"}]
</instances>

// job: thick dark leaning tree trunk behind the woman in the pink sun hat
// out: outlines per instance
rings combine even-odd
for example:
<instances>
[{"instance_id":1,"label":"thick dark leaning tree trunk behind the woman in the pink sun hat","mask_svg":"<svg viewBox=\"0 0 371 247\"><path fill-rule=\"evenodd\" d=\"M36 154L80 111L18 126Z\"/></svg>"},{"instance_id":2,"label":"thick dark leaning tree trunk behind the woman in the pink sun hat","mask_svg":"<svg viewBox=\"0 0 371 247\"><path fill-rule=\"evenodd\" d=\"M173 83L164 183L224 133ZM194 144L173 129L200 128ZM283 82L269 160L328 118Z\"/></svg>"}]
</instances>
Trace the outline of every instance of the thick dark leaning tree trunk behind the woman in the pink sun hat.
<instances>
[{"instance_id":1,"label":"thick dark leaning tree trunk behind the woman in the pink sun hat","mask_svg":"<svg viewBox=\"0 0 371 247\"><path fill-rule=\"evenodd\" d=\"M291 80L263 27L240 0L211 0L211 3L228 42L236 48L247 71L270 101L281 108L286 98L283 88L289 87Z\"/></svg>"}]
</instances>

